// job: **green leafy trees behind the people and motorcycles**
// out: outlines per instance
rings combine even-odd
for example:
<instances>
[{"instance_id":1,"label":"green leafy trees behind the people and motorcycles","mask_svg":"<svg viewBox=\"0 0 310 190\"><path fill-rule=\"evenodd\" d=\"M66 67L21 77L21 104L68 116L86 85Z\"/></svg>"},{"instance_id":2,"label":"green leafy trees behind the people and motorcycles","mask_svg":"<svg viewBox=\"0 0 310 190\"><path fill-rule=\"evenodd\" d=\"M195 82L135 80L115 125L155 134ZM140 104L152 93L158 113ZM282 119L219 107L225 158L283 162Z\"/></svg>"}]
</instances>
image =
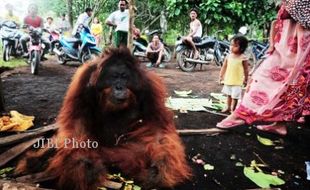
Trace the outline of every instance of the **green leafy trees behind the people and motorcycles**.
<instances>
[{"instance_id":1,"label":"green leafy trees behind the people and motorcycles","mask_svg":"<svg viewBox=\"0 0 310 190\"><path fill-rule=\"evenodd\" d=\"M52 10L56 14L66 12L67 0L34 0L40 5L41 11ZM168 34L186 35L189 30L189 10L197 8L199 19L203 24L204 34L234 34L241 26L247 25L253 30L251 37L263 38L270 22L275 19L276 11L273 0L135 0L135 25L140 29L159 29L158 16L162 11L168 19ZM104 21L110 13L117 10L118 0L73 0L73 19L86 7L95 8L95 16L103 22L105 32L108 27ZM216 34L218 30L223 31ZM265 36L266 37L266 36ZM176 36L174 37L176 38Z\"/></svg>"}]
</instances>

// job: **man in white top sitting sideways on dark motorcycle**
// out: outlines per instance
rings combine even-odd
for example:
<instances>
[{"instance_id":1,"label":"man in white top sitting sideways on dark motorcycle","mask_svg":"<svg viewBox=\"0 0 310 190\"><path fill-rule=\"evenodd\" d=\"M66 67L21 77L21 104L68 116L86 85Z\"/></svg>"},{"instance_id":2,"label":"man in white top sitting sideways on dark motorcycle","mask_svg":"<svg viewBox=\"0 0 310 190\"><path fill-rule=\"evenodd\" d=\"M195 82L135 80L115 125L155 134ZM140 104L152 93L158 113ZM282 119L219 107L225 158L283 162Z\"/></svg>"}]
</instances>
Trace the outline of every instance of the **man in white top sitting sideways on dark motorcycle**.
<instances>
[{"instance_id":1,"label":"man in white top sitting sideways on dark motorcycle","mask_svg":"<svg viewBox=\"0 0 310 190\"><path fill-rule=\"evenodd\" d=\"M190 10L189 16L191 18L190 32L187 36L183 37L183 42L188 43L194 50L194 59L199 58L199 52L195 46L195 43L201 41L202 36L202 25L201 22L197 19L198 10L193 8Z\"/></svg>"}]
</instances>

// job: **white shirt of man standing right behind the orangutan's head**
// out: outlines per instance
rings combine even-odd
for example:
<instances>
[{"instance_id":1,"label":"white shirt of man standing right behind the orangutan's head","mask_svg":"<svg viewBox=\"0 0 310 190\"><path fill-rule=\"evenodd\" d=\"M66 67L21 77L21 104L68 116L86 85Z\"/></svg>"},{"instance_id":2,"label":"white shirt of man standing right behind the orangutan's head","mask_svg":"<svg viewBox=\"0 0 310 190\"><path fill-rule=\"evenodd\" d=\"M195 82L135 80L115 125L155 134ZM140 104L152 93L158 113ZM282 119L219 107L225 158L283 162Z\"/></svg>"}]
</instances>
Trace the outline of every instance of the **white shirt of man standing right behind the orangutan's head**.
<instances>
[{"instance_id":1,"label":"white shirt of man standing right behind the orangutan's head","mask_svg":"<svg viewBox=\"0 0 310 190\"><path fill-rule=\"evenodd\" d=\"M126 9L121 12L120 10L114 11L108 17L107 21L116 25L115 31L128 32L129 30L129 11Z\"/></svg>"}]
</instances>

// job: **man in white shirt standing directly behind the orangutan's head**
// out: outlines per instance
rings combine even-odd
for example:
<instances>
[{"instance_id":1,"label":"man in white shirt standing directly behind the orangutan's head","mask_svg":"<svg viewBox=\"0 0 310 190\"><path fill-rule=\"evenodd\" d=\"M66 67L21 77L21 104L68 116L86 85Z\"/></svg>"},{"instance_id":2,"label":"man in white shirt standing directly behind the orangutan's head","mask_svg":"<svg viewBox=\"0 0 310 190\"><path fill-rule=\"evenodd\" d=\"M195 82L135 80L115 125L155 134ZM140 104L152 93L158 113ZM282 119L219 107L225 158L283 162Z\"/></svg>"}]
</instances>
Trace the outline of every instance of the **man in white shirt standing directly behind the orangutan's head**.
<instances>
[{"instance_id":1,"label":"man in white shirt standing directly behind the orangutan's head","mask_svg":"<svg viewBox=\"0 0 310 190\"><path fill-rule=\"evenodd\" d=\"M115 27L114 45L115 47L127 46L128 30L129 30L129 11L127 9L128 2L119 1L119 10L114 11L106 20L106 24Z\"/></svg>"}]
</instances>

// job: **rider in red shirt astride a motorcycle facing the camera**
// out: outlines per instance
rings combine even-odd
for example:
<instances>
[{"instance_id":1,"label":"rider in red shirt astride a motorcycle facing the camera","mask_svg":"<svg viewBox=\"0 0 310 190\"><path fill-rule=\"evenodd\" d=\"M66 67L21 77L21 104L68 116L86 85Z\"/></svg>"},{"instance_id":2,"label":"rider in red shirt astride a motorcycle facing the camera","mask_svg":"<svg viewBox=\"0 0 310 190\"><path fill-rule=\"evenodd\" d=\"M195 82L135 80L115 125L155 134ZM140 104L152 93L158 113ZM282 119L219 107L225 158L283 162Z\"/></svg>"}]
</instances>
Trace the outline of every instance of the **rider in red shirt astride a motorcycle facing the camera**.
<instances>
[{"instance_id":1,"label":"rider in red shirt astride a motorcycle facing the camera","mask_svg":"<svg viewBox=\"0 0 310 190\"><path fill-rule=\"evenodd\" d=\"M43 29L43 19L39 17L38 15L38 7L35 4L30 4L28 7L28 15L24 18L24 25L31 26L33 28L41 28ZM20 42L22 44L22 48L24 51L24 57L28 57L28 48L27 48L27 42L30 40L30 35L28 33L25 33L21 39ZM50 42L48 39L41 38L42 43L45 45L45 48L43 50L43 54L41 57L41 60L46 60L44 57L45 53L48 52L50 49Z\"/></svg>"}]
</instances>

